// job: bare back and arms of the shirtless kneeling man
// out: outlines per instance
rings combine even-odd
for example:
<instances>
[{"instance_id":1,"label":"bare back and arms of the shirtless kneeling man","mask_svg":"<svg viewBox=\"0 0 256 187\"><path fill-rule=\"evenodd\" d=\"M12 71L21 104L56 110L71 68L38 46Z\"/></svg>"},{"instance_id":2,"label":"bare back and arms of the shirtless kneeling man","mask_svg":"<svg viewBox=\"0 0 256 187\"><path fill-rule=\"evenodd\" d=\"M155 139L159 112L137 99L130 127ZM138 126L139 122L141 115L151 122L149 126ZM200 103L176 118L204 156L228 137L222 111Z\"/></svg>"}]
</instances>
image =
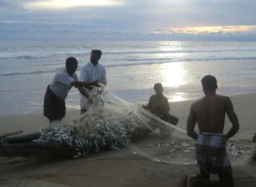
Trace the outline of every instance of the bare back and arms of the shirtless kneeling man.
<instances>
[{"instance_id":1,"label":"bare back and arms of the shirtless kneeling man","mask_svg":"<svg viewBox=\"0 0 256 187\"><path fill-rule=\"evenodd\" d=\"M226 133L226 139L233 137L239 129L239 123L234 112L233 104L229 97L217 95L214 92L207 92L205 97L195 101L190 108L187 119L187 133L197 140L197 133L194 132L196 123L200 133L223 133L225 115L228 114L229 121L233 127Z\"/></svg>"}]
</instances>

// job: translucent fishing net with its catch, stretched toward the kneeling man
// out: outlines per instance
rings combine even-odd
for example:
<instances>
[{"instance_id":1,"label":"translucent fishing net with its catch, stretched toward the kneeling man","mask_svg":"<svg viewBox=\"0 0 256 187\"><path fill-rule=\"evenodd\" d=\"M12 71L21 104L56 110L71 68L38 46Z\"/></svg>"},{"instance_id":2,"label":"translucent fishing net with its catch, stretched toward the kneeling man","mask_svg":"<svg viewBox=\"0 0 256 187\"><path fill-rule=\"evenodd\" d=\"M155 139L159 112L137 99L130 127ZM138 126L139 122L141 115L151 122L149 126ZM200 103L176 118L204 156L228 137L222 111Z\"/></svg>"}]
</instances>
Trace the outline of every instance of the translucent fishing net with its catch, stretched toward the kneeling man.
<instances>
[{"instance_id":1,"label":"translucent fishing net with its catch, stretched toward the kneeling man","mask_svg":"<svg viewBox=\"0 0 256 187\"><path fill-rule=\"evenodd\" d=\"M73 124L53 123L41 129L39 141L67 143L75 148L74 157L126 147L130 153L154 162L197 163L195 141L184 129L122 100L107 87L95 87L88 100L87 112L75 118ZM243 141L227 145L231 162L239 166L247 163L254 151L254 145Z\"/></svg>"}]
</instances>

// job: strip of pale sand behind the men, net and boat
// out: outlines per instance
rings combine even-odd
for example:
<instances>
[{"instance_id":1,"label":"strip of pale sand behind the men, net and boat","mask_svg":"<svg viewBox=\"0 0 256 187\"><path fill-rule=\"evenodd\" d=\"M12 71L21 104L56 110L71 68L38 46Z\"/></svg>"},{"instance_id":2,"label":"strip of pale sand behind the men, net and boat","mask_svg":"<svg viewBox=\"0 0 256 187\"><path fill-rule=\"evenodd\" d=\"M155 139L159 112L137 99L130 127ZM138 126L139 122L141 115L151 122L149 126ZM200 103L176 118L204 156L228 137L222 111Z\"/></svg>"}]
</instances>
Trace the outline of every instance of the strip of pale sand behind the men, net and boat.
<instances>
[{"instance_id":1,"label":"strip of pale sand behind the men, net and boat","mask_svg":"<svg viewBox=\"0 0 256 187\"><path fill-rule=\"evenodd\" d=\"M254 114L254 107L256 106L256 94L242 94L231 95L234 110L237 113L240 123L240 130L237 133L237 138L248 139L256 132L256 117ZM171 114L179 117L178 127L186 129L187 116L189 115L190 105L195 100L173 101L169 102ZM80 109L67 108L66 117L64 117L64 124L72 123L72 120L79 116ZM42 127L47 127L48 119L43 116L43 113L26 113L26 114L3 114L0 115L0 131L13 132L16 130L23 130L23 133L38 131ZM226 132L231 127L228 117L225 122Z\"/></svg>"}]
</instances>

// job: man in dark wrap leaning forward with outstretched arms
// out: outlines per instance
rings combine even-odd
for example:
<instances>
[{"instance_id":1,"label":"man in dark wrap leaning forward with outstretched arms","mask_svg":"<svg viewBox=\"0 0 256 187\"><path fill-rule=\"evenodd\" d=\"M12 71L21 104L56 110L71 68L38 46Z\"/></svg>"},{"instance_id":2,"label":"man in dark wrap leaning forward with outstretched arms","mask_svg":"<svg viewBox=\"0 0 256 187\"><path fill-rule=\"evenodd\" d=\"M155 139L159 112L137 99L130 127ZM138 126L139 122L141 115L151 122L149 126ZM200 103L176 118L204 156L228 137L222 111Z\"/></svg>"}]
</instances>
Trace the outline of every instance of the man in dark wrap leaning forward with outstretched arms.
<instances>
[{"instance_id":1,"label":"man in dark wrap leaning forward with outstretched arms","mask_svg":"<svg viewBox=\"0 0 256 187\"><path fill-rule=\"evenodd\" d=\"M79 92L88 97L87 92L83 87L97 86L98 82L82 82L78 81L77 70L78 62L74 57L69 57L66 60L66 68L63 68L54 76L53 82L49 84L45 93L45 101L43 106L43 114L48 117L49 121L61 121L66 114L65 98L69 90L75 86Z\"/></svg>"}]
</instances>

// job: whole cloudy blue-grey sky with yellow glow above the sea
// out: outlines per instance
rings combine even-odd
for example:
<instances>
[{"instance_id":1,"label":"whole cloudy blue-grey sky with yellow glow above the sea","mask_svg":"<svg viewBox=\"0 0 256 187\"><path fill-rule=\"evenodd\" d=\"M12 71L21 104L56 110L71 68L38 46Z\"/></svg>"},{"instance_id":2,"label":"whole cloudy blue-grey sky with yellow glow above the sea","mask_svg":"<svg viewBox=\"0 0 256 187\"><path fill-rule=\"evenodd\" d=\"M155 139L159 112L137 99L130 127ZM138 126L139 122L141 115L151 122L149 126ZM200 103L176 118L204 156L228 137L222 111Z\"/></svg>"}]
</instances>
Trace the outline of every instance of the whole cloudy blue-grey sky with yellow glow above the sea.
<instances>
[{"instance_id":1,"label":"whole cloudy blue-grey sky with yellow glow above the sea","mask_svg":"<svg viewBox=\"0 0 256 187\"><path fill-rule=\"evenodd\" d=\"M256 41L255 0L0 0L0 39Z\"/></svg>"}]
</instances>

